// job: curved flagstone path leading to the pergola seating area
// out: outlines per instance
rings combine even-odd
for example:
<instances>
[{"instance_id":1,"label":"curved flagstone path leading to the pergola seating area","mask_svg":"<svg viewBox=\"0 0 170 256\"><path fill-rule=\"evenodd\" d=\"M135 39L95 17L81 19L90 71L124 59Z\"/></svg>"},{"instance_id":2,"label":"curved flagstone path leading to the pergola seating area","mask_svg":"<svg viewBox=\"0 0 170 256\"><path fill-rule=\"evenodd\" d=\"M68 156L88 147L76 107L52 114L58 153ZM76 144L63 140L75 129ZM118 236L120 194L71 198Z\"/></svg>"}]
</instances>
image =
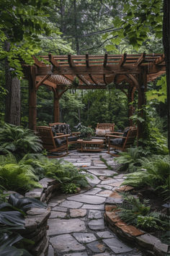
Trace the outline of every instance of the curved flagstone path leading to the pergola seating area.
<instances>
[{"instance_id":1,"label":"curved flagstone path leading to the pergola seating area","mask_svg":"<svg viewBox=\"0 0 170 256\"><path fill-rule=\"evenodd\" d=\"M123 175L114 176L116 171L107 169L99 155L116 170L113 157L105 152L78 153L73 150L63 158L74 166L86 168L93 177L88 177L92 189L77 195L58 195L50 200L48 256L145 255L133 244L122 242L104 224L104 202L120 187Z\"/></svg>"}]
</instances>

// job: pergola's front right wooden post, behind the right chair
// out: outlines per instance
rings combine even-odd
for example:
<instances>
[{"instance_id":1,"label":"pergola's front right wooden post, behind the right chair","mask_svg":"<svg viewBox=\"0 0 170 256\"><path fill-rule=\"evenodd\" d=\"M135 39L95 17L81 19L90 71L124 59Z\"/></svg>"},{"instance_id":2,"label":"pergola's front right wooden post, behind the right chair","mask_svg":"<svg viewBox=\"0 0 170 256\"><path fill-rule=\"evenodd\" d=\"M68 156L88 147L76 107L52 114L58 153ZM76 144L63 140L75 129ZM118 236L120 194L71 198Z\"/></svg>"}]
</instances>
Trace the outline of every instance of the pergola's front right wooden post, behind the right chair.
<instances>
[{"instance_id":1,"label":"pergola's front right wooden post, behind the right chair","mask_svg":"<svg viewBox=\"0 0 170 256\"><path fill-rule=\"evenodd\" d=\"M145 121L138 121L138 139L144 137L146 127L146 115L143 111L143 105L146 105L146 90L147 90L147 67L140 67L140 74L138 78L138 109L140 109L138 116L143 118Z\"/></svg>"}]
</instances>

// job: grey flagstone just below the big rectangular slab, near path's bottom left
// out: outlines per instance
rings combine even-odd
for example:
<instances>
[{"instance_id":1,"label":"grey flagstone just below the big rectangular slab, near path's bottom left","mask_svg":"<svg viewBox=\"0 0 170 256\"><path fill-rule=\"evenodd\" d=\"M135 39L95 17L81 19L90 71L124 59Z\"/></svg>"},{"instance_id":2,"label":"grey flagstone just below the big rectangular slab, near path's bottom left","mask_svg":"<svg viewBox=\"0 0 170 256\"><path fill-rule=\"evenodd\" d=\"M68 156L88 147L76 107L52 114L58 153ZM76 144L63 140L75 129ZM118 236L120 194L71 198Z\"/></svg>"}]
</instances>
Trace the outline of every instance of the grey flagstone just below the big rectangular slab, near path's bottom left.
<instances>
[{"instance_id":1,"label":"grey flagstone just below the big rectangular slab, near path's bottom left","mask_svg":"<svg viewBox=\"0 0 170 256\"><path fill-rule=\"evenodd\" d=\"M56 252L69 252L69 251L79 251L86 249L82 244L76 241L70 234L63 234L61 236L54 236L50 238L50 243Z\"/></svg>"}]
</instances>

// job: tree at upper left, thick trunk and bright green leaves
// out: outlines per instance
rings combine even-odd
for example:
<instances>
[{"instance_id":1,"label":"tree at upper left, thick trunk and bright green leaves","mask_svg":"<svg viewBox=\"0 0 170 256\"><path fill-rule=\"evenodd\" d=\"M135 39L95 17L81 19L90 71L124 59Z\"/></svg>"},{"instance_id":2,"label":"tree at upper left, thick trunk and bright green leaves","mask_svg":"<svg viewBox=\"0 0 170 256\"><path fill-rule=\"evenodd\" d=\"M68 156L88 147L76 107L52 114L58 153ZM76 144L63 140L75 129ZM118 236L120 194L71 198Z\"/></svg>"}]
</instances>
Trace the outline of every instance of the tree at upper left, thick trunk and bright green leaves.
<instances>
[{"instance_id":1,"label":"tree at upper left, thick trunk and bright green leaves","mask_svg":"<svg viewBox=\"0 0 170 256\"><path fill-rule=\"evenodd\" d=\"M32 64L32 55L40 51L38 35L50 35L53 29L46 14L51 1L6 0L0 2L0 61L5 67L5 121L20 124L21 60Z\"/></svg>"}]
</instances>

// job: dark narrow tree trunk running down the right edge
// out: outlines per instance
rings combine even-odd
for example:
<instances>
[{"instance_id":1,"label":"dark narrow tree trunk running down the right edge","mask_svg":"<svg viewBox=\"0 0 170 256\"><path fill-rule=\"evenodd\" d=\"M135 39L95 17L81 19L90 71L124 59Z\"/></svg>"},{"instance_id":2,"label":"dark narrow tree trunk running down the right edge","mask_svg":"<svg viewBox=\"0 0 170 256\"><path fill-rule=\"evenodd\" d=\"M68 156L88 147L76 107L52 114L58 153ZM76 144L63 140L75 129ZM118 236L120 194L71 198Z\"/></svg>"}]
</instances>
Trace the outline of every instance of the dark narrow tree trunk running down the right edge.
<instances>
[{"instance_id":1,"label":"dark narrow tree trunk running down the right edge","mask_svg":"<svg viewBox=\"0 0 170 256\"><path fill-rule=\"evenodd\" d=\"M164 20L163 20L163 44L166 61L166 82L167 82L167 105L168 105L168 147L170 151L170 1L164 0Z\"/></svg>"}]
</instances>

